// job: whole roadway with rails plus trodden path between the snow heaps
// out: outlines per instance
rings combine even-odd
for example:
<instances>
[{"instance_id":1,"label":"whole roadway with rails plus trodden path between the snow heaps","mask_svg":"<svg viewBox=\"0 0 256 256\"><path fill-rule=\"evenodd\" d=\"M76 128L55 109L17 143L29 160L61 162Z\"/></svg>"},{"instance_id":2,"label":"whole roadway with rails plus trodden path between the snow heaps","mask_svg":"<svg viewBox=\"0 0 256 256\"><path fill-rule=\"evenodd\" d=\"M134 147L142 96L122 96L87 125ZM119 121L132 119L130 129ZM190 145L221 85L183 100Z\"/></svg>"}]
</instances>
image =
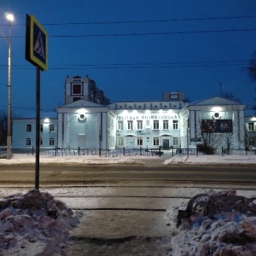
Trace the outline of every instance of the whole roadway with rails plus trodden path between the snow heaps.
<instances>
[{"instance_id":1,"label":"whole roadway with rails plus trodden path between the snow heaps","mask_svg":"<svg viewBox=\"0 0 256 256\"><path fill-rule=\"evenodd\" d=\"M26 193L34 165L0 166L0 197ZM14 187L16 187L14 189ZM40 189L84 214L63 255L170 255L167 209L206 189L252 197L255 166L42 164Z\"/></svg>"}]
</instances>

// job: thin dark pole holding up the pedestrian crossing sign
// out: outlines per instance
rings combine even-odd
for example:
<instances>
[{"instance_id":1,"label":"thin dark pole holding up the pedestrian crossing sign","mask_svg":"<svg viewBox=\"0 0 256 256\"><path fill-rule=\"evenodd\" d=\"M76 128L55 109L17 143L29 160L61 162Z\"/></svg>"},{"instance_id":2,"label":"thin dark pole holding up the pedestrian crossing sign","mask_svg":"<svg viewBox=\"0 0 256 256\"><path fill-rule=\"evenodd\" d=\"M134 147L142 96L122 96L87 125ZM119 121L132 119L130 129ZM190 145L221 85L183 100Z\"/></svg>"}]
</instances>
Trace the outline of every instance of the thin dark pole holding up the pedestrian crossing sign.
<instances>
[{"instance_id":1,"label":"thin dark pole holding up the pedestrian crossing sign","mask_svg":"<svg viewBox=\"0 0 256 256\"><path fill-rule=\"evenodd\" d=\"M39 190L39 153L40 153L40 70L36 69L36 164L35 189Z\"/></svg>"}]
</instances>

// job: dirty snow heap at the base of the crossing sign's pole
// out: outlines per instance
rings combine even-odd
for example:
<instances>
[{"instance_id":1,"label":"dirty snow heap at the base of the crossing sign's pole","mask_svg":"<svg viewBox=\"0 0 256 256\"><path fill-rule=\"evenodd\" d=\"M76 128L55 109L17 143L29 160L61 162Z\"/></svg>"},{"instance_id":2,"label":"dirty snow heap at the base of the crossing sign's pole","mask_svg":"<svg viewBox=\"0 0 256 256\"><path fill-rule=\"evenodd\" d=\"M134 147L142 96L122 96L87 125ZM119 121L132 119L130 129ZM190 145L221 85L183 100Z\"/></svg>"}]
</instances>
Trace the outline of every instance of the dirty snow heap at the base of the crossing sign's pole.
<instances>
[{"instance_id":1,"label":"dirty snow heap at the base of the crossing sign's pole","mask_svg":"<svg viewBox=\"0 0 256 256\"><path fill-rule=\"evenodd\" d=\"M70 208L47 192L34 189L0 201L0 255L61 253L79 224Z\"/></svg>"}]
</instances>

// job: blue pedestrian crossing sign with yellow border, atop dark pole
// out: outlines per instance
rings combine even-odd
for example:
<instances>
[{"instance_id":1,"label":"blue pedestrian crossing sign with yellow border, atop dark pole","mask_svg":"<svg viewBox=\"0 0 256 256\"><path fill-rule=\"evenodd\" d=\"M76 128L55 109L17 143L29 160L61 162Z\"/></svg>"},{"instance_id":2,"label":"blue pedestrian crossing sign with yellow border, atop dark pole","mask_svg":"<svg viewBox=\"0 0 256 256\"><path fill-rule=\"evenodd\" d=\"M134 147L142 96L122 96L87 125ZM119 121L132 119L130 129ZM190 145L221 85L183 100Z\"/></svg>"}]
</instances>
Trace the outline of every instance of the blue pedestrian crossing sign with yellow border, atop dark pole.
<instances>
[{"instance_id":1,"label":"blue pedestrian crossing sign with yellow border, atop dark pole","mask_svg":"<svg viewBox=\"0 0 256 256\"><path fill-rule=\"evenodd\" d=\"M48 33L34 15L26 15L26 60L48 69Z\"/></svg>"}]
</instances>

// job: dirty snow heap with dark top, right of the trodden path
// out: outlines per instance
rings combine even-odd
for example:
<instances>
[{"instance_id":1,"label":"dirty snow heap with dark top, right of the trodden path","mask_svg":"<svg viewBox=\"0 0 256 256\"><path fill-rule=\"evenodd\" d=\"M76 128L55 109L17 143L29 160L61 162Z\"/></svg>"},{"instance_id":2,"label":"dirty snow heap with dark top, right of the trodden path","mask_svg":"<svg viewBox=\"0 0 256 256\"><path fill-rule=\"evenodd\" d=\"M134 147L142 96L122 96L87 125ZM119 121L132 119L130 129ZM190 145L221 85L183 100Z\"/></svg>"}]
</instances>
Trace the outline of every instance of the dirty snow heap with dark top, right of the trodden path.
<instances>
[{"instance_id":1,"label":"dirty snow heap with dark top, right of the trodden path","mask_svg":"<svg viewBox=\"0 0 256 256\"><path fill-rule=\"evenodd\" d=\"M170 209L167 216L176 235L173 256L256 255L256 197L211 190L192 198L185 210Z\"/></svg>"}]
</instances>

